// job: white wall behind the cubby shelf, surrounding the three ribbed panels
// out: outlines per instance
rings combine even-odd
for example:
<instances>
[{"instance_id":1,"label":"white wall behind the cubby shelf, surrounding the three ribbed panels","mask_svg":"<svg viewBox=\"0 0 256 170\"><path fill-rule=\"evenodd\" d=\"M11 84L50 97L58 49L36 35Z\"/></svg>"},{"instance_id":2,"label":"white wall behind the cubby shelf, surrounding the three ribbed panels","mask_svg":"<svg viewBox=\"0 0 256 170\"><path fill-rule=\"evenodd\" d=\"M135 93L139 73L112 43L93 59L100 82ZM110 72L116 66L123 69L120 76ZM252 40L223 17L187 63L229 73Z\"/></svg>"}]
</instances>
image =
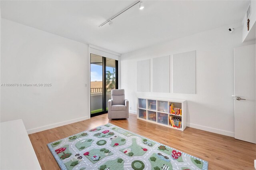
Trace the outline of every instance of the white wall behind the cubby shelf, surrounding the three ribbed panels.
<instances>
[{"instance_id":1,"label":"white wall behind the cubby shelf, surrounding the three ribbed panels","mask_svg":"<svg viewBox=\"0 0 256 170\"><path fill-rule=\"evenodd\" d=\"M226 26L123 54L120 57L120 81L132 107L130 113L136 112L137 97L140 96L186 99L189 127L234 136L234 99L231 97L234 93L233 50L234 47L255 43L242 44L242 25L234 25L232 34ZM196 50L195 95L136 92L134 75L137 60L191 50Z\"/></svg>"}]
</instances>

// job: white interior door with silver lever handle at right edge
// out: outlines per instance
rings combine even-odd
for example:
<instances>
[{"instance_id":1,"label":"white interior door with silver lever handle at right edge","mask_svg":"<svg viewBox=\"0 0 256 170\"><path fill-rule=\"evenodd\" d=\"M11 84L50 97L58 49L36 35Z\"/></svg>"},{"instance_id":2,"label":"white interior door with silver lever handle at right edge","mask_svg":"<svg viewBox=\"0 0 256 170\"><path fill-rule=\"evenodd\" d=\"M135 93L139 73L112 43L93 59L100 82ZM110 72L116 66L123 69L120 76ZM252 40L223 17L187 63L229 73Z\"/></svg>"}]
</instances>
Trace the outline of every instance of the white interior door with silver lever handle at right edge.
<instances>
[{"instance_id":1,"label":"white interior door with silver lever handle at right edge","mask_svg":"<svg viewBox=\"0 0 256 170\"><path fill-rule=\"evenodd\" d=\"M234 48L235 138L256 143L255 44Z\"/></svg>"}]
</instances>

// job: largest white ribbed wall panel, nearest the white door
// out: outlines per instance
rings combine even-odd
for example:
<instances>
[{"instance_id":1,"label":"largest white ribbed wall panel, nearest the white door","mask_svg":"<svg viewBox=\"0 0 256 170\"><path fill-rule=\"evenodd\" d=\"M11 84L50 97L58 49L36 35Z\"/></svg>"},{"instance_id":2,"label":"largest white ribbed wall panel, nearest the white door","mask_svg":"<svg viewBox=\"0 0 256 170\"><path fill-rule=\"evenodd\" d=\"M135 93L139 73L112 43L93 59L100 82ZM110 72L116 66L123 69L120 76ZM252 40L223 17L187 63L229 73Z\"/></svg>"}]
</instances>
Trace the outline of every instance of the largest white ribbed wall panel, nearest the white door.
<instances>
[{"instance_id":1,"label":"largest white ribbed wall panel, nearest the white door","mask_svg":"<svg viewBox=\"0 0 256 170\"><path fill-rule=\"evenodd\" d=\"M196 51L174 54L173 93L196 94Z\"/></svg>"}]
</instances>

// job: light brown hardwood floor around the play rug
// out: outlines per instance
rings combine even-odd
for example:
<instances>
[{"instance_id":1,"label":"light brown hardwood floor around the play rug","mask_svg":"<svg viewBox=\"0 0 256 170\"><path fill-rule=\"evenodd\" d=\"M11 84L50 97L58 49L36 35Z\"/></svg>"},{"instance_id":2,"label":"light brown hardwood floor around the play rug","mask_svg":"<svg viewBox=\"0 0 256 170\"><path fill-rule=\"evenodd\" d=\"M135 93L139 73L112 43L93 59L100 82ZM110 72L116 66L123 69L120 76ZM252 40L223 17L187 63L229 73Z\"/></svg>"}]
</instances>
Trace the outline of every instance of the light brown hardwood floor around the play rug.
<instances>
[{"instance_id":1,"label":"light brown hardwood floor around the play rug","mask_svg":"<svg viewBox=\"0 0 256 170\"><path fill-rule=\"evenodd\" d=\"M133 114L130 114L129 119L120 120L108 120L107 116L104 114L86 121L30 134L29 138L42 170L60 169L47 147L49 142L108 122L204 159L209 163L209 170L254 170L256 144L189 127L182 132L137 120Z\"/></svg>"}]
</instances>

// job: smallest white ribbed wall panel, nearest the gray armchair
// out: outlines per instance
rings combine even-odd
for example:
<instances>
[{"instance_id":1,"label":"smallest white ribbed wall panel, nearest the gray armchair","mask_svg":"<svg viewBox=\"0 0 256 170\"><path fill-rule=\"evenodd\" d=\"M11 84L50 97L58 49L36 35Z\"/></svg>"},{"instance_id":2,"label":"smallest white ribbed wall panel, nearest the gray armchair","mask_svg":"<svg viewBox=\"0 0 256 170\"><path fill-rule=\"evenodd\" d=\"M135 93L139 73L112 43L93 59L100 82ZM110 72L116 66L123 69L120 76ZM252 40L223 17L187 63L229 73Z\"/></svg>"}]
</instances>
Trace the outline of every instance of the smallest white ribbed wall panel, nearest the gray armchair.
<instances>
[{"instance_id":1,"label":"smallest white ribbed wall panel, nearest the gray armchair","mask_svg":"<svg viewBox=\"0 0 256 170\"><path fill-rule=\"evenodd\" d=\"M150 59L137 61L137 91L150 91ZM132 75L131 75L132 76Z\"/></svg>"}]
</instances>

